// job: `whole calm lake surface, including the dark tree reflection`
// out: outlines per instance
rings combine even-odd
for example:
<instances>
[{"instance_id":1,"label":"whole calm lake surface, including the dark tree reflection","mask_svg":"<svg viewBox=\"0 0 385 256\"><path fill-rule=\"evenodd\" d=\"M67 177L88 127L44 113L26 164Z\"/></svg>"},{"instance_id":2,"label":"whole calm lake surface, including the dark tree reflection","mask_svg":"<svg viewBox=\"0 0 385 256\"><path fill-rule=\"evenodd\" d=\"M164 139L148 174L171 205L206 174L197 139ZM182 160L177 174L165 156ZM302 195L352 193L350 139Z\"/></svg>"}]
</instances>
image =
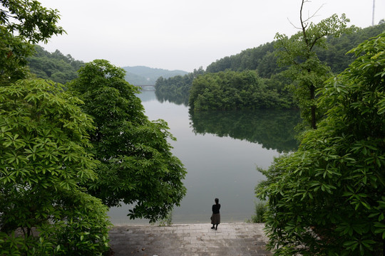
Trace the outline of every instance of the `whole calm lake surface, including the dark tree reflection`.
<instances>
[{"instance_id":1,"label":"whole calm lake surface, including the dark tree reflection","mask_svg":"<svg viewBox=\"0 0 385 256\"><path fill-rule=\"evenodd\" d=\"M188 193L173 210L173 223L209 222L214 198L220 199L222 222L250 219L255 208L255 185L264 177L256 166L267 168L274 156L294 149L293 127L299 114L293 111L201 112L160 102L155 92L139 95L150 120L164 119L177 138L173 154L188 174ZM148 223L129 220L130 206L111 208L114 224Z\"/></svg>"}]
</instances>

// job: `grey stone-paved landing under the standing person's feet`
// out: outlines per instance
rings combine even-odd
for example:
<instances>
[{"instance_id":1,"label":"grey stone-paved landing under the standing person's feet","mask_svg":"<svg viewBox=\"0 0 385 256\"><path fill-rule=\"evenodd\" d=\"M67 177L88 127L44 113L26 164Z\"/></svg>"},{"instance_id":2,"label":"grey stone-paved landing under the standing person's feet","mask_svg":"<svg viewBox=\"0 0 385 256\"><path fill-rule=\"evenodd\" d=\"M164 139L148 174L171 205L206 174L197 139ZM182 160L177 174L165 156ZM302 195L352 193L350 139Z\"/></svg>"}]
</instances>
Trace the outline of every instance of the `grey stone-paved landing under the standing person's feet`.
<instances>
[{"instance_id":1,"label":"grey stone-paved landing under the standing person's feet","mask_svg":"<svg viewBox=\"0 0 385 256\"><path fill-rule=\"evenodd\" d=\"M121 225L110 231L114 256L272 255L260 223Z\"/></svg>"}]
</instances>

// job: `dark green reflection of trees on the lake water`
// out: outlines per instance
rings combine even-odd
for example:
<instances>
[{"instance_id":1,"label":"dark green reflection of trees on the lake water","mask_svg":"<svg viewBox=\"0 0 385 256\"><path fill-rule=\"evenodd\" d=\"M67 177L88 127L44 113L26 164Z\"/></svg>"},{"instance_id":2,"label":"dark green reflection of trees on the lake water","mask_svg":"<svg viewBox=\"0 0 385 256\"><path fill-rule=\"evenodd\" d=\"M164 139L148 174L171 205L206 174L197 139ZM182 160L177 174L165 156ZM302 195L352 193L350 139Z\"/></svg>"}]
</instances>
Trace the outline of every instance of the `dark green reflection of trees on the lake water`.
<instances>
[{"instance_id":1,"label":"dark green reflection of trees on the lake water","mask_svg":"<svg viewBox=\"0 0 385 256\"><path fill-rule=\"evenodd\" d=\"M279 152L297 149L294 127L301 121L295 110L190 111L193 132L216 134L262 144Z\"/></svg>"}]
</instances>

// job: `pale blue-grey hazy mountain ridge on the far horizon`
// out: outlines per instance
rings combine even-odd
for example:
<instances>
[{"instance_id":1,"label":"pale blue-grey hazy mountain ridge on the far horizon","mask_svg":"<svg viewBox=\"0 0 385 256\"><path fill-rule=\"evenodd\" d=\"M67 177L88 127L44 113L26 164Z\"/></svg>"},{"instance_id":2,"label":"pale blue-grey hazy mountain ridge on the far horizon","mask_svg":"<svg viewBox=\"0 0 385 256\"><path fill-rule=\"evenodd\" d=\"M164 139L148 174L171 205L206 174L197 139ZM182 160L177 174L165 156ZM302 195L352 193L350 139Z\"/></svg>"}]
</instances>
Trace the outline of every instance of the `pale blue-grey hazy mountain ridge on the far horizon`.
<instances>
[{"instance_id":1,"label":"pale blue-grey hazy mountain ridge on the far horizon","mask_svg":"<svg viewBox=\"0 0 385 256\"><path fill-rule=\"evenodd\" d=\"M132 85L155 85L158 78L171 78L175 75L186 75L183 70L165 70L162 68L148 68L145 66L122 67L126 74L125 80Z\"/></svg>"}]
</instances>

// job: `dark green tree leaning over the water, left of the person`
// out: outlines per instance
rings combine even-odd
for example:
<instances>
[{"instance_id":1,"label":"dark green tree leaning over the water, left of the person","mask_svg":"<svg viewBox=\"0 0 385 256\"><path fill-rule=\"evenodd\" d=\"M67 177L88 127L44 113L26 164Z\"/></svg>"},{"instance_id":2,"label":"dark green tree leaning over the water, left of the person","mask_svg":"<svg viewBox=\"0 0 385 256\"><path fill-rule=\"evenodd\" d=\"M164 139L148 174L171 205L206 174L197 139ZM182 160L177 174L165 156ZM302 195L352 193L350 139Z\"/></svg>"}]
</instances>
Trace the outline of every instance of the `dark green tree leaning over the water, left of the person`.
<instances>
[{"instance_id":1,"label":"dark green tree leaning over the water, left of the person","mask_svg":"<svg viewBox=\"0 0 385 256\"><path fill-rule=\"evenodd\" d=\"M79 70L69 88L81 97L83 110L93 117L91 152L101 161L88 190L107 206L133 203L130 218L165 218L179 206L186 188L186 171L171 154L167 123L150 122L135 95L138 89L124 80L122 68L94 60Z\"/></svg>"}]
</instances>

